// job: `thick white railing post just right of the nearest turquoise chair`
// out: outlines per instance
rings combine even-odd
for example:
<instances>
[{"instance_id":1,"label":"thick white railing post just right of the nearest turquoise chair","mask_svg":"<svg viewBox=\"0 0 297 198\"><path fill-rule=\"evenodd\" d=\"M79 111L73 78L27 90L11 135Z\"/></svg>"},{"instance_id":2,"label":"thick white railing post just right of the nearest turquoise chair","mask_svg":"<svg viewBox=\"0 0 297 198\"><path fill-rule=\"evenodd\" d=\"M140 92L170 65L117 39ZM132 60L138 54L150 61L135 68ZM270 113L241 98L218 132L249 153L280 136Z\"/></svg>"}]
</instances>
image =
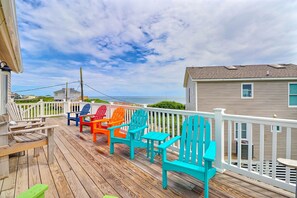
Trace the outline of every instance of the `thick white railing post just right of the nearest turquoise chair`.
<instances>
[{"instance_id":1,"label":"thick white railing post just right of the nearest turquoise chair","mask_svg":"<svg viewBox=\"0 0 297 198\"><path fill-rule=\"evenodd\" d=\"M223 162L224 162L224 115L225 109L215 108L215 141L217 144L217 153L215 160L215 167L217 171L224 172Z\"/></svg>"}]
</instances>

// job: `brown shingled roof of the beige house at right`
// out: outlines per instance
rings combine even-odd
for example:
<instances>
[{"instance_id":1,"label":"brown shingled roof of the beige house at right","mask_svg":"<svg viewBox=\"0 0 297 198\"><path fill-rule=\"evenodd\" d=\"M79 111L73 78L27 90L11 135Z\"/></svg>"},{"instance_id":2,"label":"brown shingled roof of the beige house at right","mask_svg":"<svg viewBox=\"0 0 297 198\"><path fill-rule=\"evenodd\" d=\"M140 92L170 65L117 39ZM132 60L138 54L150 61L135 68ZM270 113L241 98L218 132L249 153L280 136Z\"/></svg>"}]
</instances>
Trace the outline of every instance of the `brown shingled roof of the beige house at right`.
<instances>
[{"instance_id":1,"label":"brown shingled roof of the beige house at right","mask_svg":"<svg viewBox=\"0 0 297 198\"><path fill-rule=\"evenodd\" d=\"M187 67L184 87L189 76L192 81L234 81L234 80L297 80L295 64L262 64L233 66Z\"/></svg>"}]
</instances>

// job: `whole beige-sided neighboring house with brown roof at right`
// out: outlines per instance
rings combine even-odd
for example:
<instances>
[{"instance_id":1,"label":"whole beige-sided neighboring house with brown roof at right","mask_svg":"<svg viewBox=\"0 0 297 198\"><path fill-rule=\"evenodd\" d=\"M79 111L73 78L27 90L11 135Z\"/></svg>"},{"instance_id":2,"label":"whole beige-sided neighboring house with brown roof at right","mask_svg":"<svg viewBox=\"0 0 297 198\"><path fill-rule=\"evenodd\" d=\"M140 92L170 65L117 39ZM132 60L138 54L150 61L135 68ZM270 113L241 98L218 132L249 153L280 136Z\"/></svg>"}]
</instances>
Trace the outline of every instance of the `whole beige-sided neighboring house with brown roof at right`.
<instances>
[{"instance_id":1,"label":"whole beige-sided neighboring house with brown roof at right","mask_svg":"<svg viewBox=\"0 0 297 198\"><path fill-rule=\"evenodd\" d=\"M297 119L297 65L294 64L188 67L184 87L187 110L212 112L214 108L224 108L228 114ZM238 125L233 125L233 152L236 152ZM285 157L285 128L266 127L265 141L271 142L273 127L279 131L278 157ZM243 143L247 143L247 123L242 123L241 128ZM252 130L257 158L259 125ZM292 151L296 150L297 133L292 132ZM271 153L271 147L265 147L265 157L270 158ZM297 153L292 154L296 159Z\"/></svg>"}]
</instances>

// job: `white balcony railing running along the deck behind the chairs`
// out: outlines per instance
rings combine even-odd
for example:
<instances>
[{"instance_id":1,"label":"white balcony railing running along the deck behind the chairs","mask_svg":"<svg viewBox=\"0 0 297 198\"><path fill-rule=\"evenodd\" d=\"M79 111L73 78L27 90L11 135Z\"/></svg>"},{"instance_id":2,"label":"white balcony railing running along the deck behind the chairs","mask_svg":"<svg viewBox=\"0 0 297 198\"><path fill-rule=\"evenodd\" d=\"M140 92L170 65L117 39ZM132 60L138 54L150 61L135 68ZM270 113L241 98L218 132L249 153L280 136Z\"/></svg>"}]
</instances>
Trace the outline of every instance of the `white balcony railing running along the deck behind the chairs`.
<instances>
[{"instance_id":1,"label":"white balcony railing running along the deck behind the chairs","mask_svg":"<svg viewBox=\"0 0 297 198\"><path fill-rule=\"evenodd\" d=\"M84 102L43 102L19 104L26 118L61 116L70 111L79 111ZM217 143L215 166L218 171L229 170L267 184L294 192L296 171L277 163L278 157L297 159L297 120L275 119L225 114L224 109L214 112L196 112L159 109L139 106L90 103L91 113L101 105L107 106L107 117L117 107L125 108L125 123L139 108L148 111L147 131L159 131L173 138L181 134L183 120L189 115L204 116L211 124L212 138ZM146 132L147 132L146 131ZM237 134L237 135L236 135ZM179 150L179 143L171 147Z\"/></svg>"}]
</instances>

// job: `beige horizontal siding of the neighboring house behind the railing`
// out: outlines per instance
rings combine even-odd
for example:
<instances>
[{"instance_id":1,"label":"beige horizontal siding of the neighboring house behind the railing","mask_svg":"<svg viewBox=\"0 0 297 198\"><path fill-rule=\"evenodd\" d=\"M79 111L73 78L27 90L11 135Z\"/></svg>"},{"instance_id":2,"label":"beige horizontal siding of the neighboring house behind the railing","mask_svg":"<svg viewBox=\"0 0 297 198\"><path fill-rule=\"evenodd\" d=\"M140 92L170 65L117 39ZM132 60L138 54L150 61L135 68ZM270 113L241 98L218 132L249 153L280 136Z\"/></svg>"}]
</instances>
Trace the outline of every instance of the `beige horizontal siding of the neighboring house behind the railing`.
<instances>
[{"instance_id":1,"label":"beige horizontal siding of the neighboring house behind the railing","mask_svg":"<svg viewBox=\"0 0 297 198\"><path fill-rule=\"evenodd\" d=\"M236 115L250 115L260 117L273 117L297 119L297 108L288 107L288 83L293 81L255 81L253 82L253 99L241 99L241 83L238 82L199 82L197 86L198 110L212 112L214 108L225 108L226 113ZM194 108L190 109L194 110ZM227 125L225 123L225 151L227 151ZM234 137L234 125L233 134ZM277 157L285 157L286 128L282 128L277 135ZM253 125L253 145L255 159L259 158L259 125ZM234 138L232 137L232 140ZM292 158L297 159L297 131L292 129ZM271 159L272 151L271 127L265 126L266 159ZM232 150L235 152L235 140Z\"/></svg>"}]
</instances>

